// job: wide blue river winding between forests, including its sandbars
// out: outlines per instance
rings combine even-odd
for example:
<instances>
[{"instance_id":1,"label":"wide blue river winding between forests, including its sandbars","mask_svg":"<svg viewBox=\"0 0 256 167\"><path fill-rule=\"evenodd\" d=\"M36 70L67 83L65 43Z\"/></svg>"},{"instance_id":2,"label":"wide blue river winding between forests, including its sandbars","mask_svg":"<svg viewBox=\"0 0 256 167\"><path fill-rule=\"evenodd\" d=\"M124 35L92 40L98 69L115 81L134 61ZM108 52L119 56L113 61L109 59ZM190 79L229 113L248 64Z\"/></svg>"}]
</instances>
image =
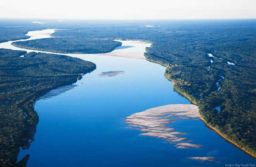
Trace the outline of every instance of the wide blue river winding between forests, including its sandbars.
<instances>
[{"instance_id":1,"label":"wide blue river winding between forests, including its sandbars","mask_svg":"<svg viewBox=\"0 0 256 167\"><path fill-rule=\"evenodd\" d=\"M28 40L51 33L32 31ZM63 54L92 61L97 69L36 101L35 142L20 150L19 159L30 154L31 167L256 163L205 126L197 106L173 91L163 66L143 59L150 43L121 42L109 54ZM35 51L11 43L0 48Z\"/></svg>"}]
</instances>

